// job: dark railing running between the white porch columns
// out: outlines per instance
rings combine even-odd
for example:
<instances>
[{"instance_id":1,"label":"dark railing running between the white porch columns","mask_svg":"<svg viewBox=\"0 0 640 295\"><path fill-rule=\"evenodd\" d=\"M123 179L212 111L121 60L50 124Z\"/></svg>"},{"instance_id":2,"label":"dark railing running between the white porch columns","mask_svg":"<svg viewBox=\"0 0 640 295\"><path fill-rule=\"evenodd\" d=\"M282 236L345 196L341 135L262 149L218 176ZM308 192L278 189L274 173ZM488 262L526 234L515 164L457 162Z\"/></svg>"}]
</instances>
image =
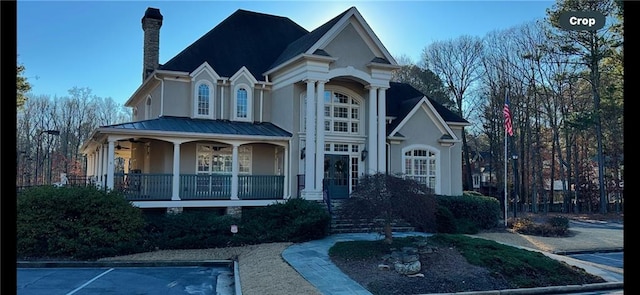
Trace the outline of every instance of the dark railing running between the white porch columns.
<instances>
[{"instance_id":1,"label":"dark railing running between the white porch columns","mask_svg":"<svg viewBox=\"0 0 640 295\"><path fill-rule=\"evenodd\" d=\"M114 173L114 190L122 191L129 201L168 201L173 193L173 174ZM229 174L180 175L181 200L229 200L231 191ZM241 200L282 199L283 195L282 175L238 176Z\"/></svg>"}]
</instances>

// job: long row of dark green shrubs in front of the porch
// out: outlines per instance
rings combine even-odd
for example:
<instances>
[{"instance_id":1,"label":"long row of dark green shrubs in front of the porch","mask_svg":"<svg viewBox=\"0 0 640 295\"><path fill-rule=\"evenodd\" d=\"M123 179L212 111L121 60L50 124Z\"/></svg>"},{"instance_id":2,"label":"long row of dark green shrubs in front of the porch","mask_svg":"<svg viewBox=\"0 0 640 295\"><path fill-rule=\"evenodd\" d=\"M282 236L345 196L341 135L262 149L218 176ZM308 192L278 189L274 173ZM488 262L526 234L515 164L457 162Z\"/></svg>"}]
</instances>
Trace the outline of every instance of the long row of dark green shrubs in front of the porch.
<instances>
[{"instance_id":1,"label":"long row of dark green shrubs in front of the porch","mask_svg":"<svg viewBox=\"0 0 640 295\"><path fill-rule=\"evenodd\" d=\"M302 242L325 237L330 223L320 203L303 199L245 208L242 218L213 211L145 214L121 193L95 187L33 187L17 200L16 253L26 260Z\"/></svg>"}]
</instances>

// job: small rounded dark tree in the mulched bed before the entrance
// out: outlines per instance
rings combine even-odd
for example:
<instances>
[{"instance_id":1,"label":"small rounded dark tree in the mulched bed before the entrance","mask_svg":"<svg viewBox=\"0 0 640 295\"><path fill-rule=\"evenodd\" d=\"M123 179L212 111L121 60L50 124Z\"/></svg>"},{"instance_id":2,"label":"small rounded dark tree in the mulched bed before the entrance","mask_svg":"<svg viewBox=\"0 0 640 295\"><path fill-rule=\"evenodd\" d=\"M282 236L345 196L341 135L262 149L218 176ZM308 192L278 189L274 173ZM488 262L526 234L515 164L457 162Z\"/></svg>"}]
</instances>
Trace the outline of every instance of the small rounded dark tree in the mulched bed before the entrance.
<instances>
[{"instance_id":1,"label":"small rounded dark tree in the mulched bed before the entrance","mask_svg":"<svg viewBox=\"0 0 640 295\"><path fill-rule=\"evenodd\" d=\"M436 200L431 190L415 180L389 174L363 176L341 209L354 221L381 220L388 244L393 242L392 224L397 219L423 231L435 227Z\"/></svg>"}]
</instances>

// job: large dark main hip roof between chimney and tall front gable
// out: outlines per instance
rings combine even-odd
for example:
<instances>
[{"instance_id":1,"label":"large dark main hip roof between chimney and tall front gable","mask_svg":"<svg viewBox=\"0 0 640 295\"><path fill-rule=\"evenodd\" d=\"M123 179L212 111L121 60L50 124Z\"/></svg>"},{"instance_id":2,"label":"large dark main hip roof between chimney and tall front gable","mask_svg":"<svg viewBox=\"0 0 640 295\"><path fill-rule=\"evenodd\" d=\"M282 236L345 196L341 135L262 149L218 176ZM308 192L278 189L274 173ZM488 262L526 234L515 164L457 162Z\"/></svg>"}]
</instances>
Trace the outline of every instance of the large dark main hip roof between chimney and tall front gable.
<instances>
[{"instance_id":1,"label":"large dark main hip roof between chimney and tall front gable","mask_svg":"<svg viewBox=\"0 0 640 295\"><path fill-rule=\"evenodd\" d=\"M160 69L192 72L206 61L221 76L231 77L246 66L263 81L273 60L307 33L289 18L239 9Z\"/></svg>"}]
</instances>

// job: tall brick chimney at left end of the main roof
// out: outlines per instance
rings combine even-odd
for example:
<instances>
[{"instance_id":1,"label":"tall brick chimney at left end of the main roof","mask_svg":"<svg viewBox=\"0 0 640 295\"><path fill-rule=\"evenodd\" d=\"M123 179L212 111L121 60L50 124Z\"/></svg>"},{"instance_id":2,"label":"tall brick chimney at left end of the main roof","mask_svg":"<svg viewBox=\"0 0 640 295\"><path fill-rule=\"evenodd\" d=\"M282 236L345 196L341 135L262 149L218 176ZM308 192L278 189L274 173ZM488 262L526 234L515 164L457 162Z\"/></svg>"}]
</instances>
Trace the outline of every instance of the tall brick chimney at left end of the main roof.
<instances>
[{"instance_id":1,"label":"tall brick chimney at left end of the main roof","mask_svg":"<svg viewBox=\"0 0 640 295\"><path fill-rule=\"evenodd\" d=\"M160 9L148 7L142 17L142 30L144 31L142 82L158 68L161 26L162 14L160 14Z\"/></svg>"}]
</instances>

